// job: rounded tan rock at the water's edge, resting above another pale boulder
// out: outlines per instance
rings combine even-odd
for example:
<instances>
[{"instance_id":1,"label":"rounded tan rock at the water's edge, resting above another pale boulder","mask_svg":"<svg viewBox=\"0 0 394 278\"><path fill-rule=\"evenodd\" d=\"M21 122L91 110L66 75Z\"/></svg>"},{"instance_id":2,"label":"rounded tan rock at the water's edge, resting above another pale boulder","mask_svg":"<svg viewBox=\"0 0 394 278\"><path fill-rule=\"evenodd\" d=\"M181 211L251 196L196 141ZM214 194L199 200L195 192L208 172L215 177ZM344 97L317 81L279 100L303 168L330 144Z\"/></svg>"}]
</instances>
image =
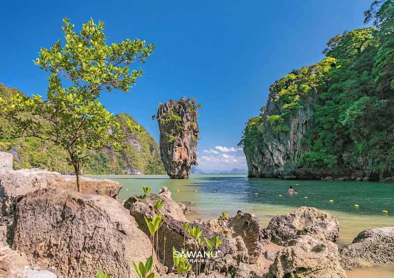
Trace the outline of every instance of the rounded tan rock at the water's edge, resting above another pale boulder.
<instances>
[{"instance_id":1,"label":"rounded tan rock at the water's edge, resting above another pale boulder","mask_svg":"<svg viewBox=\"0 0 394 278\"><path fill-rule=\"evenodd\" d=\"M261 233L263 240L287 246L303 235L335 242L340 230L335 216L315 208L300 207L287 215L275 216Z\"/></svg>"}]
</instances>

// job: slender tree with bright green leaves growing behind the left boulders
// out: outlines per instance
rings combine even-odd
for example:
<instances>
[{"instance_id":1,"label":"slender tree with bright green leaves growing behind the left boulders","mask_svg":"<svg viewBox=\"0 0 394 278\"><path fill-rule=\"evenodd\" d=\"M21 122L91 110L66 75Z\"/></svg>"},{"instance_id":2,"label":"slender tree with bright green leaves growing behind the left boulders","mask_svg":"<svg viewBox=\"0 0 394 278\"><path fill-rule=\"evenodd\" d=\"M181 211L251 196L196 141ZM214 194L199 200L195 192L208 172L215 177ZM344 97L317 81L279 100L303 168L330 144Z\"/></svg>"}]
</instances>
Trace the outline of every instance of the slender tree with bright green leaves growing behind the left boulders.
<instances>
[{"instance_id":1,"label":"slender tree with bright green leaves growing behind the left boulders","mask_svg":"<svg viewBox=\"0 0 394 278\"><path fill-rule=\"evenodd\" d=\"M153 54L155 44L127 39L106 44L104 22L92 19L74 32L69 19L63 19L66 43L59 39L48 50L41 48L35 64L49 72L47 98L16 95L11 101L0 98L0 117L6 119L1 131L15 137L33 136L53 141L69 153L78 191L80 170L87 150L124 148L121 125L99 102L101 92L127 93L143 70L130 71L132 62L144 63ZM131 122L132 129L137 129ZM141 127L140 127L141 128Z\"/></svg>"}]
</instances>

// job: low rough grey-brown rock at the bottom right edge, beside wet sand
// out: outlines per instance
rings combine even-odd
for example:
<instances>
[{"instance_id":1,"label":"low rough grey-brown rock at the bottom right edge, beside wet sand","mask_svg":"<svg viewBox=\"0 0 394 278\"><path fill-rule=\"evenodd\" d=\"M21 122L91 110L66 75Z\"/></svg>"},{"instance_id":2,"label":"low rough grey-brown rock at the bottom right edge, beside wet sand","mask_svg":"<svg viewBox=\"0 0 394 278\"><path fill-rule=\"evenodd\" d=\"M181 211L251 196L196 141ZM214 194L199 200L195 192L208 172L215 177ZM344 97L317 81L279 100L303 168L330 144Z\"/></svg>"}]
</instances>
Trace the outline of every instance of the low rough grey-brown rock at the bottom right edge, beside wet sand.
<instances>
[{"instance_id":1,"label":"low rough grey-brown rock at the bottom right edge, beside wet sand","mask_svg":"<svg viewBox=\"0 0 394 278\"><path fill-rule=\"evenodd\" d=\"M341 249L345 269L394 264L394 227L364 230Z\"/></svg>"}]
</instances>

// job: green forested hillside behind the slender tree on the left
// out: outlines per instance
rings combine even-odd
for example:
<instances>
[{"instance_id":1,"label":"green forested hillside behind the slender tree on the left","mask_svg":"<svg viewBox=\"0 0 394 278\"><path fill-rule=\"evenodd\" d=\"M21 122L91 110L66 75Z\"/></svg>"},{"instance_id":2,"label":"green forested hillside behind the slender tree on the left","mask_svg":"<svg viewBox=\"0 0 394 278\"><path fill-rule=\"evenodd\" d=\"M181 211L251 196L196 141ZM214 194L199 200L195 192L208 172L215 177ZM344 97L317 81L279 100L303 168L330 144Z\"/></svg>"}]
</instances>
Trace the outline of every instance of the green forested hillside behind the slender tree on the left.
<instances>
[{"instance_id":1,"label":"green forested hillside behind the slender tree on the left","mask_svg":"<svg viewBox=\"0 0 394 278\"><path fill-rule=\"evenodd\" d=\"M0 84L0 96L3 99L11 99L19 93L16 88L7 88ZM116 120L123 126L131 120L138 124L128 114L118 114ZM149 134L130 132L124 128L127 134L126 145L128 149L115 152L108 149L92 151L86 165L82 167L83 174L127 174L132 169L141 171L143 174L165 174L163 163L160 159L159 147ZM143 133L144 133L143 132ZM68 165L67 152L55 146L50 141L40 140L34 137L12 139L4 133L0 133L0 151L14 154L14 169L41 168L49 171L63 173L73 172L72 166Z\"/></svg>"}]
</instances>

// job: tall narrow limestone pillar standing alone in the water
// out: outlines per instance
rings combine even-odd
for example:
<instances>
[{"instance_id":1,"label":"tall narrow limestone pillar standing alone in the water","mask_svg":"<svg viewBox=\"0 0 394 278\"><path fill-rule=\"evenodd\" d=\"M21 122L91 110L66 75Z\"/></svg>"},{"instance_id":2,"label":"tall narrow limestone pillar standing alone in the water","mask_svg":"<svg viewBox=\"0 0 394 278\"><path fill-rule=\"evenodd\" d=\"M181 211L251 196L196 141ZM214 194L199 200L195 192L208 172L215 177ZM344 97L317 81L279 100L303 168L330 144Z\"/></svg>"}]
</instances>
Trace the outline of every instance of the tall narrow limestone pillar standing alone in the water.
<instances>
[{"instance_id":1,"label":"tall narrow limestone pillar standing alone in the water","mask_svg":"<svg viewBox=\"0 0 394 278\"><path fill-rule=\"evenodd\" d=\"M170 99L159 105L160 154L172 179L187 179L192 165L197 165L196 147L200 130L194 98Z\"/></svg>"}]
</instances>

